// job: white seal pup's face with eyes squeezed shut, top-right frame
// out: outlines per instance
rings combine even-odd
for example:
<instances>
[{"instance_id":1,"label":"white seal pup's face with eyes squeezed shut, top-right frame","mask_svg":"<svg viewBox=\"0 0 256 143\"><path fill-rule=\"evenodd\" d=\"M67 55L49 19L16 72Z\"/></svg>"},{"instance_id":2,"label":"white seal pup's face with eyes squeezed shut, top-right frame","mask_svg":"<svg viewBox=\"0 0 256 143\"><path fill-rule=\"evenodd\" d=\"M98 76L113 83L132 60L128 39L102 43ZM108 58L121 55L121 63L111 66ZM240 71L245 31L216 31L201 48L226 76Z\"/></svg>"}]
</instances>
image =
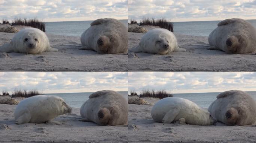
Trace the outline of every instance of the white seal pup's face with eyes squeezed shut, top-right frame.
<instances>
[{"instance_id":1,"label":"white seal pup's face with eyes squeezed shut, top-right frame","mask_svg":"<svg viewBox=\"0 0 256 143\"><path fill-rule=\"evenodd\" d=\"M170 50L170 43L164 36L159 36L155 41L155 47L157 47L158 54L167 54Z\"/></svg>"}]
</instances>

